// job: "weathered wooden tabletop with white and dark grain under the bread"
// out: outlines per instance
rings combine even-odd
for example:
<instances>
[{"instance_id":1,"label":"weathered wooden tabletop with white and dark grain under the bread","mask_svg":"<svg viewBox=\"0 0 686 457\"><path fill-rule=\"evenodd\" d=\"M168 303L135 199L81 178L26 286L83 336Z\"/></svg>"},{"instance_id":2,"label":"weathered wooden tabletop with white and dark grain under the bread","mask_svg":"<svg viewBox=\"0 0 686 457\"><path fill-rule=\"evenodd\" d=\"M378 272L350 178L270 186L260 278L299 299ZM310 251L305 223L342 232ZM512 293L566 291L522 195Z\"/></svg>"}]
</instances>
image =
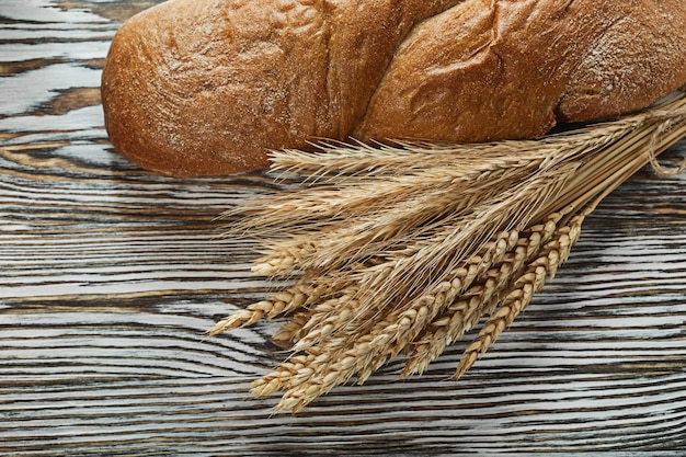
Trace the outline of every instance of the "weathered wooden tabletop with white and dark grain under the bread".
<instances>
[{"instance_id":1,"label":"weathered wooden tabletop with white and dark grain under the bread","mask_svg":"<svg viewBox=\"0 0 686 457\"><path fill-rule=\"evenodd\" d=\"M297 416L251 398L276 324L204 332L267 290L215 217L270 179L156 176L103 128L108 41L151 3L0 0L0 455L685 455L686 175L650 169L460 382L457 344Z\"/></svg>"}]
</instances>

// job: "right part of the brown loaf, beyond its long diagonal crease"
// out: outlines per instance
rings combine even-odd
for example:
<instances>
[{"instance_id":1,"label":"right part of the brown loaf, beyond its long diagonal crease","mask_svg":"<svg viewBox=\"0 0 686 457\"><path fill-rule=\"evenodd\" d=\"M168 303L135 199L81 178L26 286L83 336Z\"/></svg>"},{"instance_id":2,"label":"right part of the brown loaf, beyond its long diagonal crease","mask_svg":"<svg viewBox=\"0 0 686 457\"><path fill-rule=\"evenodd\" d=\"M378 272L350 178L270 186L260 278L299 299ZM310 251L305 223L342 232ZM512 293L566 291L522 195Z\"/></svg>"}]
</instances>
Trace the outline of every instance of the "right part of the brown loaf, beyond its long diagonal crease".
<instances>
[{"instance_id":1,"label":"right part of the brown loaf, beyond its long diagonal crease","mask_svg":"<svg viewBox=\"0 0 686 457\"><path fill-rule=\"evenodd\" d=\"M685 4L465 2L405 39L356 136L536 138L644 107L686 82Z\"/></svg>"}]
</instances>

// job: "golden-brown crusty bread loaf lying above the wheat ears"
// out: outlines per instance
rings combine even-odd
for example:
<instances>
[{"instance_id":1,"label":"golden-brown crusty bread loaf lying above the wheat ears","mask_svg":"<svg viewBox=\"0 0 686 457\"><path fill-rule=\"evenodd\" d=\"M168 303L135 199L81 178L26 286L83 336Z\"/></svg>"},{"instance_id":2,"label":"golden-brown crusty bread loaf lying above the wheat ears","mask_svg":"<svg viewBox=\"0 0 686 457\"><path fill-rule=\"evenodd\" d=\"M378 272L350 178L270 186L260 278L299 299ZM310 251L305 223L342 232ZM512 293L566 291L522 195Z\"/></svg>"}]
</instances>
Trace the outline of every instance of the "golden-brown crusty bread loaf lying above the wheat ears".
<instances>
[{"instance_id":1,"label":"golden-brown crusty bread loaf lying above the wheat ears","mask_svg":"<svg viewBox=\"0 0 686 457\"><path fill-rule=\"evenodd\" d=\"M684 84L684 0L171 0L119 28L102 94L121 153L190 176L321 138L534 138Z\"/></svg>"}]
</instances>

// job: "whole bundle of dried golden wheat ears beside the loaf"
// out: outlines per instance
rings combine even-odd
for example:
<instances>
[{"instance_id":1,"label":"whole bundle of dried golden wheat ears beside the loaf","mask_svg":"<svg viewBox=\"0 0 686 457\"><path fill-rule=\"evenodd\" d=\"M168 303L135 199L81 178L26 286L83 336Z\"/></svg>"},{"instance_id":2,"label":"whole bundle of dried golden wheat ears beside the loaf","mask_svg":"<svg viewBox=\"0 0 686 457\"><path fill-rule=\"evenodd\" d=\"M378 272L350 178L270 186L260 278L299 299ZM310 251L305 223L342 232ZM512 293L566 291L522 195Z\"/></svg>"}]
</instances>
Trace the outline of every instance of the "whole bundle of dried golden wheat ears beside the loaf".
<instances>
[{"instance_id":1,"label":"whole bundle of dried golden wheat ears beside the loaf","mask_svg":"<svg viewBox=\"0 0 686 457\"><path fill-rule=\"evenodd\" d=\"M323 144L286 150L273 169L302 176L288 192L232 212L232 235L254 237L253 271L291 278L211 334L288 315L274 335L293 355L253 382L299 411L388 359L401 376L482 322L459 378L552 277L584 217L686 135L686 94L644 112L537 140L483 145Z\"/></svg>"}]
</instances>

